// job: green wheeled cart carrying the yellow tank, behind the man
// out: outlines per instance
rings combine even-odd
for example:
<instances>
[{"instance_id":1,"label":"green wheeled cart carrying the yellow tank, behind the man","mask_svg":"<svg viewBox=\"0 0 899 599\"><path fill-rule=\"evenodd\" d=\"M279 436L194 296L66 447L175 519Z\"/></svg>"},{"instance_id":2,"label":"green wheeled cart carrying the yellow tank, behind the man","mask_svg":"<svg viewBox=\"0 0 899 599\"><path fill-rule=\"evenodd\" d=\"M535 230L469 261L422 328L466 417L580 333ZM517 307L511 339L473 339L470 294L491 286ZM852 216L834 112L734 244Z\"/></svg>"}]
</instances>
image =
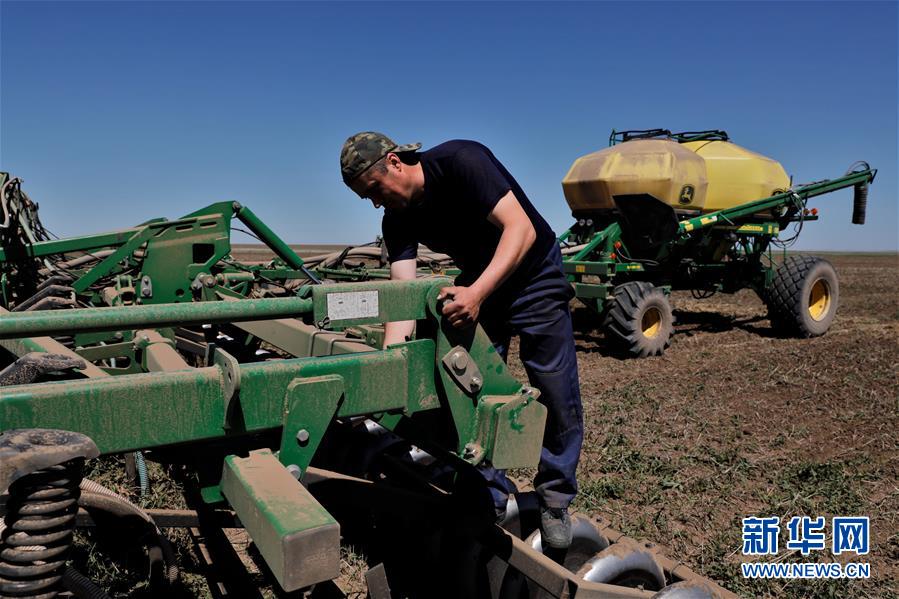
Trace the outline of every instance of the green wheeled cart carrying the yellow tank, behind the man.
<instances>
[{"instance_id":1,"label":"green wheeled cart carrying the yellow tank, behind the man","mask_svg":"<svg viewBox=\"0 0 899 599\"><path fill-rule=\"evenodd\" d=\"M559 238L577 298L595 310L624 355L661 354L673 333L669 294L754 290L784 335L825 333L839 301L831 264L778 252L818 219L812 197L852 187L852 222L864 224L866 163L844 176L792 185L777 162L723 131L613 132L608 148L579 158L562 182L577 222ZM781 234L790 225L789 239Z\"/></svg>"}]
</instances>

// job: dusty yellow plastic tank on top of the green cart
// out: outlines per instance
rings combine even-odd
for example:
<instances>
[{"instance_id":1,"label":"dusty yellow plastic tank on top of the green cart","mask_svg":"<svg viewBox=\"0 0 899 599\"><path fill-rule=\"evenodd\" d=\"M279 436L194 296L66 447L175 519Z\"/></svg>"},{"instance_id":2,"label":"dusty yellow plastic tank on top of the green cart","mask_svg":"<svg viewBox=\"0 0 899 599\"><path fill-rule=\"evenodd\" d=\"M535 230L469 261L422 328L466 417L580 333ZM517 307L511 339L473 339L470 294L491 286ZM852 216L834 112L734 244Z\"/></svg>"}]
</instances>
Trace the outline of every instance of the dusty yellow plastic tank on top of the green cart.
<instances>
[{"instance_id":1,"label":"dusty yellow plastic tank on top of the green cart","mask_svg":"<svg viewBox=\"0 0 899 599\"><path fill-rule=\"evenodd\" d=\"M562 180L575 214L649 194L675 210L711 212L789 188L776 161L727 141L635 139L578 158Z\"/></svg>"}]
</instances>

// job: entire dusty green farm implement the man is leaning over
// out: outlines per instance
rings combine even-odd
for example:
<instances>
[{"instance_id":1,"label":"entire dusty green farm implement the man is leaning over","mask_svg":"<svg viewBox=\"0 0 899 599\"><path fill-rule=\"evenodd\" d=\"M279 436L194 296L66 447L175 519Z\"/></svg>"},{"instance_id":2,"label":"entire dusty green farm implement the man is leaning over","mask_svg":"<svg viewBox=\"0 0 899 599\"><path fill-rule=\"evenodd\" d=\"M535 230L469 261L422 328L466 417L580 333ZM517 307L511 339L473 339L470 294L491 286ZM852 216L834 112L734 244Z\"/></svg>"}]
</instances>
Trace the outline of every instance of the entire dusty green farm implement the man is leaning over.
<instances>
[{"instance_id":1,"label":"entire dusty green farm implement the man is leaning over","mask_svg":"<svg viewBox=\"0 0 899 599\"><path fill-rule=\"evenodd\" d=\"M162 596L176 527L210 549L215 596L261 596L223 528L245 530L278 593L326 596L351 543L374 599L728 596L599 519L544 554L529 493L494 522L476 469L533 467L545 409L480 328L443 321L448 279L324 284L232 202L55 239L18 179L0 186L0 596L107 596L68 563L76 528L143 547ZM274 260L234 259L235 219ZM416 339L382 349L392 320ZM142 489L162 464L186 508L83 478L99 456Z\"/></svg>"}]
</instances>

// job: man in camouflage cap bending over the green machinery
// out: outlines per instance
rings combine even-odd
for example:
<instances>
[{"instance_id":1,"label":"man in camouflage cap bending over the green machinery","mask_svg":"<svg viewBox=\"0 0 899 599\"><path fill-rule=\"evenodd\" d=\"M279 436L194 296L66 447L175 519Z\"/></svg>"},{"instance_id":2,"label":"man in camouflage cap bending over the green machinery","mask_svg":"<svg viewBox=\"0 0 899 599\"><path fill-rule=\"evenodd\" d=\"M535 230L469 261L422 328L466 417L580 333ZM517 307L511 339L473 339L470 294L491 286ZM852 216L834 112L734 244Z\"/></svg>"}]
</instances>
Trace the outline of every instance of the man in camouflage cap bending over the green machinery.
<instances>
[{"instance_id":1,"label":"man in camouflage cap bending over the green machinery","mask_svg":"<svg viewBox=\"0 0 899 599\"><path fill-rule=\"evenodd\" d=\"M556 236L512 175L485 146L455 140L418 152L375 132L347 139L340 153L343 181L375 208L391 279L415 278L419 242L448 254L461 274L441 292L443 315L456 327L480 322L503 360L513 334L531 385L547 407L534 486L541 502L543 541L571 542L568 505L583 441L577 359ZM414 322L388 323L385 346L404 341ZM482 471L497 515L514 490L502 472Z\"/></svg>"}]
</instances>

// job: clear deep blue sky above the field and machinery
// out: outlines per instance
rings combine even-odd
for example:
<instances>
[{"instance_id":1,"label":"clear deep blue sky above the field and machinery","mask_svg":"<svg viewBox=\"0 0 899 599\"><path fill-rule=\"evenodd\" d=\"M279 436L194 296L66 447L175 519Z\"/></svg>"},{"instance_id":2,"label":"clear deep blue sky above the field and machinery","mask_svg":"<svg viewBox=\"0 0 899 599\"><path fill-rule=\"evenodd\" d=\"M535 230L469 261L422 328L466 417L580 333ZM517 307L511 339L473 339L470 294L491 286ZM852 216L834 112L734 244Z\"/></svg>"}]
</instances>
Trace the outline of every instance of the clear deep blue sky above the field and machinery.
<instances>
[{"instance_id":1,"label":"clear deep blue sky above the field and machinery","mask_svg":"<svg viewBox=\"0 0 899 599\"><path fill-rule=\"evenodd\" d=\"M294 243L370 241L350 134L493 149L556 232L612 128L725 129L813 200L803 249L897 248L896 2L0 2L0 169L61 236L238 200ZM238 238L245 240L245 238Z\"/></svg>"}]
</instances>

